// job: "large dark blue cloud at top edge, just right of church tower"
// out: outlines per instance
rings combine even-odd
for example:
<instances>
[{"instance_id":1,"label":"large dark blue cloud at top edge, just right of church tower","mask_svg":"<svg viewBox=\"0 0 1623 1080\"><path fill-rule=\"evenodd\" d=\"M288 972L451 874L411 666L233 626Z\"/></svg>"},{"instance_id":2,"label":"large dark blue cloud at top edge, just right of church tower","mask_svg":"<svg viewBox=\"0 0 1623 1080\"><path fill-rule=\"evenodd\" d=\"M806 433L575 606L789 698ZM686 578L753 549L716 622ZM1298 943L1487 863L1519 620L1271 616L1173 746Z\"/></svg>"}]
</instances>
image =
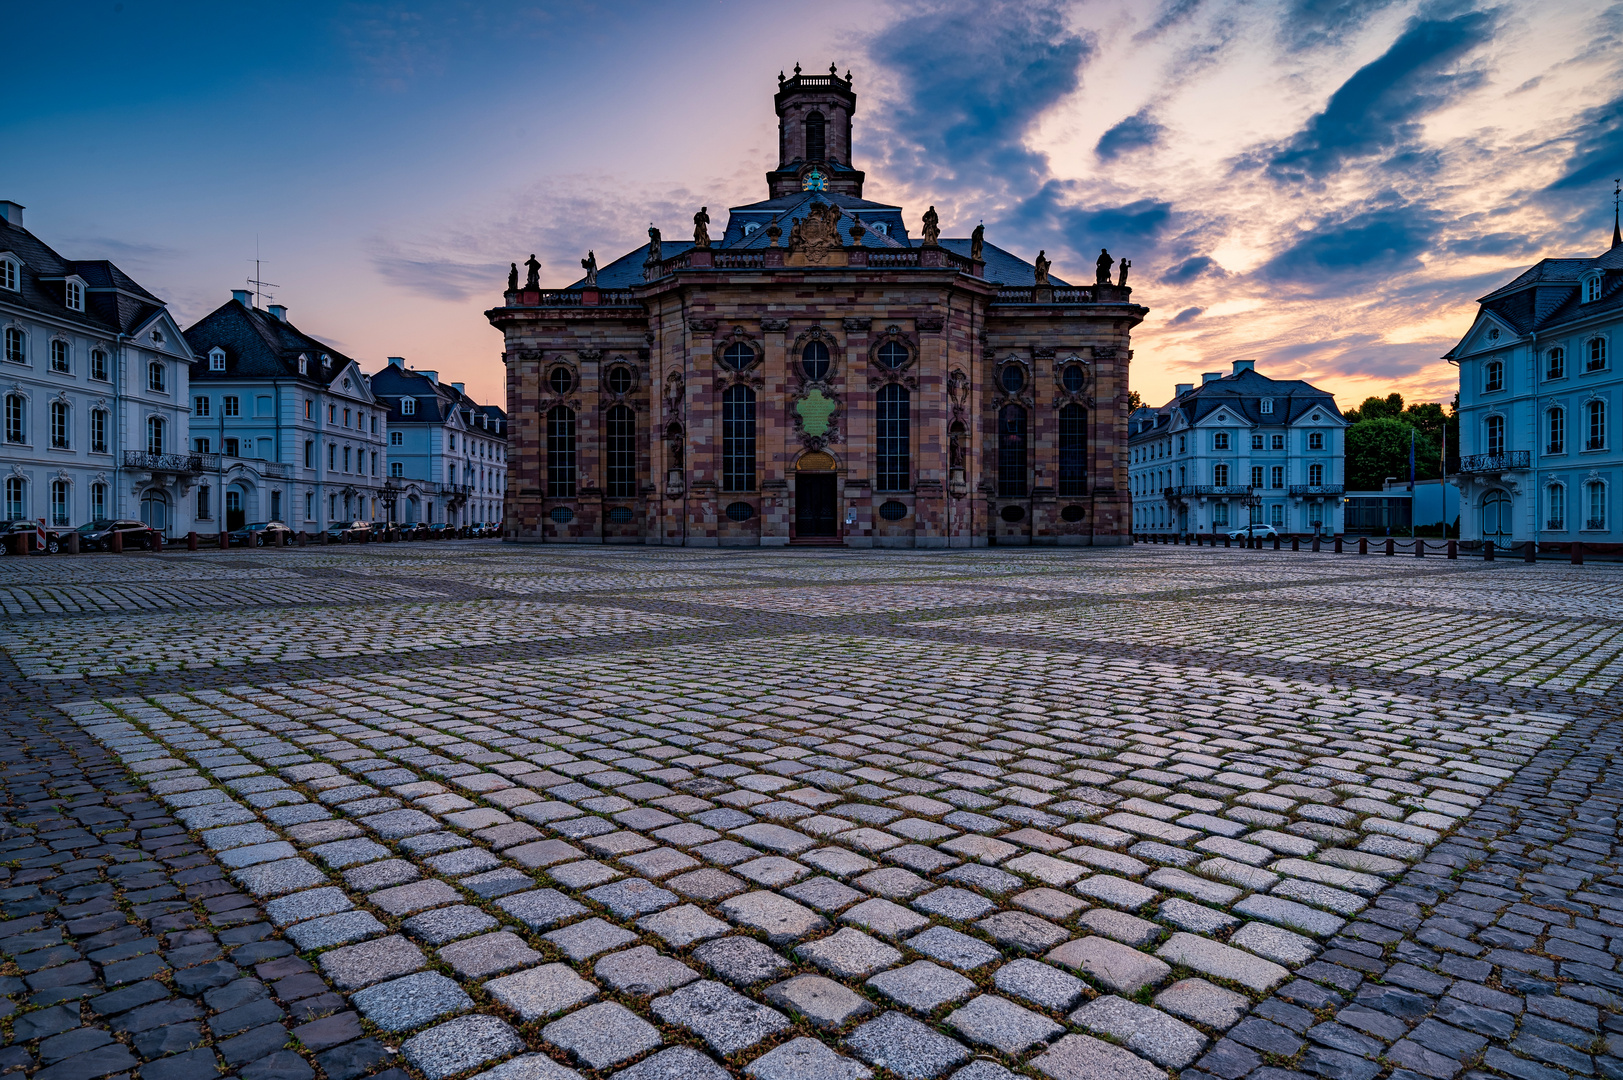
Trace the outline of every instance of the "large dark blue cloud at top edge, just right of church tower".
<instances>
[{"instance_id":1,"label":"large dark blue cloud at top edge, just right of church tower","mask_svg":"<svg viewBox=\"0 0 1623 1080\"><path fill-rule=\"evenodd\" d=\"M1073 93L1092 42L1066 26L1057 0L922 0L872 44L894 73L891 102L863 151L878 151L914 182L998 177L1040 184L1047 161L1024 138Z\"/></svg>"}]
</instances>

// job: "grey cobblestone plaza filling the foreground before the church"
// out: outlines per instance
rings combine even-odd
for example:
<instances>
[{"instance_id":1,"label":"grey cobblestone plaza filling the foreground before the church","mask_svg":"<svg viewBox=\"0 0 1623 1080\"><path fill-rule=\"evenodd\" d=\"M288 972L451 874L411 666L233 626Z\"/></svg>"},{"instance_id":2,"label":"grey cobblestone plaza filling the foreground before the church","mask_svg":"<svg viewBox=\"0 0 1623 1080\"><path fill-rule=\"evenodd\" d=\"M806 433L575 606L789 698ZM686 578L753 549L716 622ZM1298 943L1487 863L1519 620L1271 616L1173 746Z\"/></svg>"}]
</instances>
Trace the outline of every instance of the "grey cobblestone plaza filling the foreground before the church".
<instances>
[{"instance_id":1,"label":"grey cobblestone plaza filling the foreground before the church","mask_svg":"<svg viewBox=\"0 0 1623 1080\"><path fill-rule=\"evenodd\" d=\"M1620 567L448 542L0 607L0 1070L1623 1077Z\"/></svg>"}]
</instances>

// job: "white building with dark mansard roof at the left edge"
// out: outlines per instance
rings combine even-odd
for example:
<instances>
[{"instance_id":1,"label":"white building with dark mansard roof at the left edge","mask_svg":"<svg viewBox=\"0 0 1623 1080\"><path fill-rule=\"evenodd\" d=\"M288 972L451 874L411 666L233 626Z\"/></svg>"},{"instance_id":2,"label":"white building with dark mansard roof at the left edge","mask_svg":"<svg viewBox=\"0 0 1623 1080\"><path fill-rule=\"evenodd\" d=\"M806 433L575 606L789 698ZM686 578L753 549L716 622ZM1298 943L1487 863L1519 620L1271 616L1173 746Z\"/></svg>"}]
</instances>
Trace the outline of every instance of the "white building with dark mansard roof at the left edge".
<instances>
[{"instance_id":1,"label":"white building with dark mansard roof at the left edge","mask_svg":"<svg viewBox=\"0 0 1623 1080\"><path fill-rule=\"evenodd\" d=\"M192 529L211 461L187 443L193 352L164 302L107 260L70 260L0 201L0 508L76 528Z\"/></svg>"}]
</instances>

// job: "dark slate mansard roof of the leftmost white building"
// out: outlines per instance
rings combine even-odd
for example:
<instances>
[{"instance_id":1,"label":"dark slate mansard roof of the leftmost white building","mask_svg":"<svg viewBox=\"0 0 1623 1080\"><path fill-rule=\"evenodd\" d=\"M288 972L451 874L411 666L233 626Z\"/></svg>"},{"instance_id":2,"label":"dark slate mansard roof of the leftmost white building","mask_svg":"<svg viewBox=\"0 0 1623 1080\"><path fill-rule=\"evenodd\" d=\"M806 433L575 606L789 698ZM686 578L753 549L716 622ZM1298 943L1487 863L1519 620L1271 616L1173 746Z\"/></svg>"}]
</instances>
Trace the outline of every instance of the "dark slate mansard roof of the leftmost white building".
<instances>
[{"instance_id":1,"label":"dark slate mansard roof of the leftmost white building","mask_svg":"<svg viewBox=\"0 0 1623 1080\"><path fill-rule=\"evenodd\" d=\"M130 274L105 258L63 258L21 226L0 219L0 252L21 261L18 292L3 291L0 300L104 335L135 333L164 310L164 302L143 289ZM67 305L65 278L84 281L84 310Z\"/></svg>"}]
</instances>

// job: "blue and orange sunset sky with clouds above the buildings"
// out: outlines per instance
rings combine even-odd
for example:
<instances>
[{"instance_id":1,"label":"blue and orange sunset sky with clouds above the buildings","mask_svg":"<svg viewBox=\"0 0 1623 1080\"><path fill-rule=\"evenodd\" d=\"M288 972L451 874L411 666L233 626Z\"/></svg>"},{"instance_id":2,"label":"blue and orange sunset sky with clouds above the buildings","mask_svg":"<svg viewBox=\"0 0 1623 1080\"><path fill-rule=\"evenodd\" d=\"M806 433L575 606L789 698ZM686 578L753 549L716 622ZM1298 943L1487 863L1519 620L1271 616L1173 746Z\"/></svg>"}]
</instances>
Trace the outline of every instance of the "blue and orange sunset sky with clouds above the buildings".
<instances>
[{"instance_id":1,"label":"blue and orange sunset sky with clouds above the buildings","mask_svg":"<svg viewBox=\"0 0 1623 1080\"><path fill-rule=\"evenodd\" d=\"M255 252L302 330L503 401L482 317L764 198L779 70L857 89L867 197L1087 279L1133 260L1133 387L1255 359L1448 401L1474 300L1597 255L1623 5L1383 0L21 5L0 198L190 325Z\"/></svg>"}]
</instances>

